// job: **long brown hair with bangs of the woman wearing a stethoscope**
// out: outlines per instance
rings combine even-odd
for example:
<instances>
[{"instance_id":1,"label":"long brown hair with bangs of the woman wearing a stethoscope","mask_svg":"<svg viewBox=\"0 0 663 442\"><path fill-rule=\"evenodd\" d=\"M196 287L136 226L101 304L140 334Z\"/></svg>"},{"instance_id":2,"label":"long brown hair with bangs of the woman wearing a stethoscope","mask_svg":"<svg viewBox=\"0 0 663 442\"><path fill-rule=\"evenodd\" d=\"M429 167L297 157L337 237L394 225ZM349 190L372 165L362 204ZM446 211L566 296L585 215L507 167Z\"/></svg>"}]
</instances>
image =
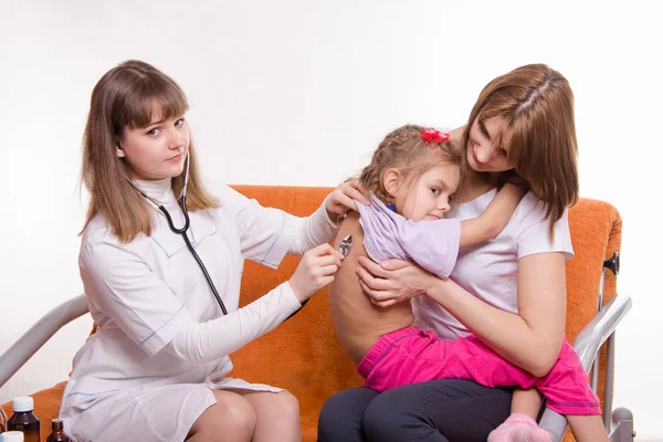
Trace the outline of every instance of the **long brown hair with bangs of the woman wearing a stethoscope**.
<instances>
[{"instance_id":1,"label":"long brown hair with bangs of the woman wearing a stethoscope","mask_svg":"<svg viewBox=\"0 0 663 442\"><path fill-rule=\"evenodd\" d=\"M125 160L117 157L116 148L127 127L150 124L155 106L160 107L164 118L178 117L189 108L185 93L172 78L140 61L119 64L94 87L83 137L82 180L91 194L83 230L93 218L103 215L123 242L139 233L151 233L154 210L125 178L130 172ZM183 172L172 179L176 196L183 180ZM191 141L187 208L196 211L217 207L219 202L202 187Z\"/></svg>"}]
</instances>

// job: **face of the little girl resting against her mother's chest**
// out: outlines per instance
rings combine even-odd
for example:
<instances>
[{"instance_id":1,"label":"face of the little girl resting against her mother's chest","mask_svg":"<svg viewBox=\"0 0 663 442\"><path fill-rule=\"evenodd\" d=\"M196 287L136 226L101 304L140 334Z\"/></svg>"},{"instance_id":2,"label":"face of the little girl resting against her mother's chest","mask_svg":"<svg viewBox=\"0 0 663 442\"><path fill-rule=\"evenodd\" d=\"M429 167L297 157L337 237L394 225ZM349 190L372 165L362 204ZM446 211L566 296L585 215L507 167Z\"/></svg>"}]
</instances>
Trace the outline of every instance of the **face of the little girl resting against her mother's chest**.
<instances>
[{"instance_id":1,"label":"face of the little girl resting against her mother's chest","mask_svg":"<svg viewBox=\"0 0 663 442\"><path fill-rule=\"evenodd\" d=\"M459 188L461 169L444 161L424 172L414 186L399 186L396 191L396 211L414 222L444 218L450 201Z\"/></svg>"}]
</instances>

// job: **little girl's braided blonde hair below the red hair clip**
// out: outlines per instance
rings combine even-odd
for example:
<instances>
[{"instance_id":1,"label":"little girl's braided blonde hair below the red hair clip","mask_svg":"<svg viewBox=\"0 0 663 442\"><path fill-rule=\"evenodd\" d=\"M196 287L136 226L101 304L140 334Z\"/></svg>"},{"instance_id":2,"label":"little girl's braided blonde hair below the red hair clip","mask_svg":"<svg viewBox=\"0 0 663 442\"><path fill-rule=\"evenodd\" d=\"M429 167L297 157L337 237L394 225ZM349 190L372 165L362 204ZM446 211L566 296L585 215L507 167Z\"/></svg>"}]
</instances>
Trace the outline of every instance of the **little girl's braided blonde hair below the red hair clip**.
<instances>
[{"instance_id":1,"label":"little girl's braided blonde hair below the red hair clip","mask_svg":"<svg viewBox=\"0 0 663 442\"><path fill-rule=\"evenodd\" d=\"M361 187L389 204L393 202L385 188L385 173L389 169L400 170L406 177L406 186L417 182L423 173L440 161L459 166L462 177L464 155L460 147L451 141L429 140L427 144L422 137L422 131L425 129L422 126L406 125L387 135L373 152L370 164L359 175Z\"/></svg>"}]
</instances>

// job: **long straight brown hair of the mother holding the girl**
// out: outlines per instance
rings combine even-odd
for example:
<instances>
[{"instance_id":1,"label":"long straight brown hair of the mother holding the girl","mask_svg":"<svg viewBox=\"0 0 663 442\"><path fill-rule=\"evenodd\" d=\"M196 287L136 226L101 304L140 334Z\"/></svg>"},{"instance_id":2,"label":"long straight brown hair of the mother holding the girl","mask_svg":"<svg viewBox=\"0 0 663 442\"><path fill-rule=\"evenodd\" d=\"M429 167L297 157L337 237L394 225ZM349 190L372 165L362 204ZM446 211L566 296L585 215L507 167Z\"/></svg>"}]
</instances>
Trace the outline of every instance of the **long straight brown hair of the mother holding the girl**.
<instances>
[{"instance_id":1,"label":"long straight brown hair of the mother holding the girl","mask_svg":"<svg viewBox=\"0 0 663 442\"><path fill-rule=\"evenodd\" d=\"M529 64L498 76L484 87L463 134L478 118L499 116L511 129L508 159L532 192L547 203L546 218L558 221L578 202L578 141L573 92L569 82L545 64ZM499 137L502 137L502 133Z\"/></svg>"}]
</instances>

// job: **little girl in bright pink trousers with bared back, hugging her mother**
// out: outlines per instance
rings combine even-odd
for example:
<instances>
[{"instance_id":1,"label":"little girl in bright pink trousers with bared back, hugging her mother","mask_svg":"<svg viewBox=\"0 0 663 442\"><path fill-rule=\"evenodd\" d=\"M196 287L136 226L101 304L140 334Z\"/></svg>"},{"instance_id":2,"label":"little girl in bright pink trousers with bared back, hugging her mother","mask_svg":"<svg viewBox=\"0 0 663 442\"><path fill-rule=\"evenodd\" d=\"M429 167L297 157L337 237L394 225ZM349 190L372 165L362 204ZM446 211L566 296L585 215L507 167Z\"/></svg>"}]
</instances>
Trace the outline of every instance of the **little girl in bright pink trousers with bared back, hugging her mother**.
<instances>
[{"instance_id":1,"label":"little girl in bright pink trousers with bared back, hugging her mother","mask_svg":"<svg viewBox=\"0 0 663 442\"><path fill-rule=\"evenodd\" d=\"M548 375L536 378L512 365L474 336L440 340L432 332L413 327L410 303L377 307L362 292L351 272L357 257L366 254L376 262L410 259L446 278L455 264L459 248L473 246L497 236L516 210L524 190L505 185L487 209L475 219L445 219L450 201L461 182L463 155L449 143L449 134L419 126L403 126L389 134L360 175L371 204L357 203L364 232L354 232L355 253L346 257L330 286L334 323L341 344L366 379L365 387L385 391L433 379L470 379L486 387L536 388L547 406L559 413L591 415L569 419L571 429L587 440L606 440L599 400L589 388L587 373L573 348L565 343ZM337 239L347 235L341 227ZM362 236L362 238L358 238ZM525 392L515 396L514 413L495 430L490 441L549 440L536 427L538 408ZM516 403L519 402L519 403ZM527 415L529 414L529 415ZM583 427L583 428L580 428ZM514 431L514 428L516 431ZM580 430L580 431L579 431Z\"/></svg>"}]
</instances>

